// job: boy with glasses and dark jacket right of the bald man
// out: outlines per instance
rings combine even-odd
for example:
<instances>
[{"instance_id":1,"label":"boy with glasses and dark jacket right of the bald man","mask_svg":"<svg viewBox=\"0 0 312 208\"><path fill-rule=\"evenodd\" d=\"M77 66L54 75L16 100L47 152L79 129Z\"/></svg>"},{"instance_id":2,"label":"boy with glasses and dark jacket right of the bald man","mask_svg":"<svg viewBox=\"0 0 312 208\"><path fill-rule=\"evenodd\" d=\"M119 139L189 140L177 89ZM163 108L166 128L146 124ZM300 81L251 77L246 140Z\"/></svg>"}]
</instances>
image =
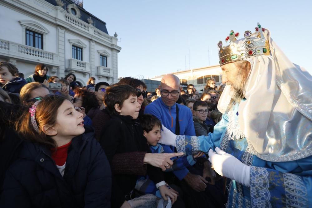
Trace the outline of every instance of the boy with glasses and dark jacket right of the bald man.
<instances>
[{"instance_id":1,"label":"boy with glasses and dark jacket right of the bald man","mask_svg":"<svg viewBox=\"0 0 312 208\"><path fill-rule=\"evenodd\" d=\"M196 136L208 136L209 128L205 121L208 114L208 105L205 101L197 100L193 105L193 121Z\"/></svg>"}]
</instances>

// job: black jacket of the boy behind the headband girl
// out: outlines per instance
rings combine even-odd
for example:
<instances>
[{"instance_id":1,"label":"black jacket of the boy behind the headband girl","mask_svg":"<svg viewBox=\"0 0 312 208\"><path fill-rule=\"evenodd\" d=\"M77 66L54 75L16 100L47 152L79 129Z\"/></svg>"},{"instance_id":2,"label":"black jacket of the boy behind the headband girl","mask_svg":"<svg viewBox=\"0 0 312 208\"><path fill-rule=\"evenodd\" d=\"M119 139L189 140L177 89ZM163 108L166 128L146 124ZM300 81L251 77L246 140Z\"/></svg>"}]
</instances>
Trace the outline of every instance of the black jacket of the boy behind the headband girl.
<instances>
[{"instance_id":1,"label":"black jacket of the boy behind the headband girl","mask_svg":"<svg viewBox=\"0 0 312 208\"><path fill-rule=\"evenodd\" d=\"M131 116L114 115L103 127L99 142L110 164L115 154L150 152L142 127ZM160 168L147 165L147 173L155 184L164 180ZM112 207L120 207L124 203L125 195L134 189L137 178L135 174L113 174Z\"/></svg>"}]
</instances>

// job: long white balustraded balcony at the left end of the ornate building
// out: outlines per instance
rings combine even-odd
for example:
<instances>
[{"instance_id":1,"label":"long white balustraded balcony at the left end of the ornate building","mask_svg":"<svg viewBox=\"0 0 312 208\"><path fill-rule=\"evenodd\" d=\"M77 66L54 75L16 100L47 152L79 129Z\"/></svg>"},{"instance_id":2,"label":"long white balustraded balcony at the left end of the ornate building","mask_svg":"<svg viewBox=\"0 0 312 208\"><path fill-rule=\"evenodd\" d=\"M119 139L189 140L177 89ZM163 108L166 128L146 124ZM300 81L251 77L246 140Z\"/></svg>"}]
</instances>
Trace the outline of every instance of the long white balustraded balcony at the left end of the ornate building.
<instances>
[{"instance_id":1,"label":"long white balustraded balcony at the left end of the ornate building","mask_svg":"<svg viewBox=\"0 0 312 208\"><path fill-rule=\"evenodd\" d=\"M0 55L12 58L58 64L58 54L0 39Z\"/></svg>"}]
</instances>

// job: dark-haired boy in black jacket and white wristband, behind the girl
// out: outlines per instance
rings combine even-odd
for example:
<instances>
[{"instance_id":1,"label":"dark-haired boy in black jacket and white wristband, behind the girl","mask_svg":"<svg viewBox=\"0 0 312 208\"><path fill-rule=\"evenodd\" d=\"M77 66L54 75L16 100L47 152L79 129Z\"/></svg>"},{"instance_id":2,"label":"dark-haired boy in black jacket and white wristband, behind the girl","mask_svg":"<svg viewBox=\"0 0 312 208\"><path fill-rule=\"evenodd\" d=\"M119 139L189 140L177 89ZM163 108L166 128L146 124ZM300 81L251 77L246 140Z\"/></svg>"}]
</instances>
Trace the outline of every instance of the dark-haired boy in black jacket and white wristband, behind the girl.
<instances>
[{"instance_id":1,"label":"dark-haired boy in black jacket and white wristband, behind the girl","mask_svg":"<svg viewBox=\"0 0 312 208\"><path fill-rule=\"evenodd\" d=\"M110 165L116 153L150 152L143 129L136 122L141 105L137 101L137 91L129 85L111 85L106 89L104 102L112 115L100 136L100 144L105 150ZM160 168L148 165L147 173L157 187L165 186L163 172ZM114 174L112 177L112 207L130 207L128 200L134 198L134 186L138 176ZM173 202L178 192L172 188L160 189L161 195L169 196Z\"/></svg>"}]
</instances>

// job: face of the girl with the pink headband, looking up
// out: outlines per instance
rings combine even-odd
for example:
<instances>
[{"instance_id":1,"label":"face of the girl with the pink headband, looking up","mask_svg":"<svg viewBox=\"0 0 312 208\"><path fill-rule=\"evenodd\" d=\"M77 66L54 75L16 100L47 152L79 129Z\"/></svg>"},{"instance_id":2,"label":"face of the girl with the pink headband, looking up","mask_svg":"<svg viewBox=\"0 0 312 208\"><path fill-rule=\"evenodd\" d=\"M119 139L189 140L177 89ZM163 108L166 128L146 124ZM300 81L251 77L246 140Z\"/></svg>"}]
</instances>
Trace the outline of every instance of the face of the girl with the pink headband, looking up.
<instances>
[{"instance_id":1,"label":"face of the girl with the pink headband, looking up","mask_svg":"<svg viewBox=\"0 0 312 208\"><path fill-rule=\"evenodd\" d=\"M83 127L83 114L76 111L73 104L67 99L57 110L56 124L57 138L74 138L85 132Z\"/></svg>"}]
</instances>

